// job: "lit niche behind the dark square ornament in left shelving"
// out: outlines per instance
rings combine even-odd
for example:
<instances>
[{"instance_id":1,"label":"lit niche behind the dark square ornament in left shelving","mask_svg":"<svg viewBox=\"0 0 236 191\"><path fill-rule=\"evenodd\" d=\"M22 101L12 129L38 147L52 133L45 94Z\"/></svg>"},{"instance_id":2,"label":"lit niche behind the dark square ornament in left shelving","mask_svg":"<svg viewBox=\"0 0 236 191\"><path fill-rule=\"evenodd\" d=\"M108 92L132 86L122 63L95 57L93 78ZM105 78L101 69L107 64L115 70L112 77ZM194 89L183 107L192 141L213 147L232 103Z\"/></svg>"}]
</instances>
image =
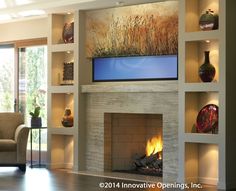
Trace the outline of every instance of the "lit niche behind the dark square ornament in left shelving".
<instances>
[{"instance_id":1,"label":"lit niche behind the dark square ornament in left shelving","mask_svg":"<svg viewBox=\"0 0 236 191\"><path fill-rule=\"evenodd\" d=\"M73 51L52 53L52 74L51 74L52 86L66 85L66 83L63 81L64 63L70 63L70 62L74 62ZM71 83L73 83L73 80Z\"/></svg>"}]
</instances>

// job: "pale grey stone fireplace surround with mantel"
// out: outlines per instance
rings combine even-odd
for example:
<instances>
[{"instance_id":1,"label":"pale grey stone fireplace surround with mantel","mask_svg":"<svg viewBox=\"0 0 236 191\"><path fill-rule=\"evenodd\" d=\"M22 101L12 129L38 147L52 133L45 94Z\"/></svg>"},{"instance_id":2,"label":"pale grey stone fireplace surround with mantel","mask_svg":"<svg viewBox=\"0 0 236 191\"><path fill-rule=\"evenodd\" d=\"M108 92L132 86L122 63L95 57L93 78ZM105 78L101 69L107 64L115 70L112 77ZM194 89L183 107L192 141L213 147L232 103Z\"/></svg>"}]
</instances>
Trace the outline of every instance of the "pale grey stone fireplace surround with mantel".
<instances>
[{"instance_id":1,"label":"pale grey stone fireplace surround with mantel","mask_svg":"<svg viewBox=\"0 0 236 191\"><path fill-rule=\"evenodd\" d=\"M162 114L163 182L178 176L178 82L98 83L83 85L86 107L86 171L111 170L106 113ZM108 141L108 142L107 142Z\"/></svg>"}]
</instances>

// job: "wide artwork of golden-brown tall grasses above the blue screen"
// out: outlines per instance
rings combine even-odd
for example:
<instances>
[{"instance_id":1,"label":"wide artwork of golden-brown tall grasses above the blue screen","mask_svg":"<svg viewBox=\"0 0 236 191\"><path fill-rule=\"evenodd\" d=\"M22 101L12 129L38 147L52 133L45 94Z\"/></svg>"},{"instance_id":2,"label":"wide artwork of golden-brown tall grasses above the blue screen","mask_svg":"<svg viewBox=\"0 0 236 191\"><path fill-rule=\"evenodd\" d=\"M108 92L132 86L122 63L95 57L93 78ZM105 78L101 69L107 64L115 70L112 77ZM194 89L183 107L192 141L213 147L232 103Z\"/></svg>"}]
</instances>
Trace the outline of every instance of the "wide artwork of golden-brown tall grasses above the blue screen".
<instances>
[{"instance_id":1,"label":"wide artwork of golden-brown tall grasses above the blue screen","mask_svg":"<svg viewBox=\"0 0 236 191\"><path fill-rule=\"evenodd\" d=\"M177 54L176 1L90 11L87 57Z\"/></svg>"}]
</instances>

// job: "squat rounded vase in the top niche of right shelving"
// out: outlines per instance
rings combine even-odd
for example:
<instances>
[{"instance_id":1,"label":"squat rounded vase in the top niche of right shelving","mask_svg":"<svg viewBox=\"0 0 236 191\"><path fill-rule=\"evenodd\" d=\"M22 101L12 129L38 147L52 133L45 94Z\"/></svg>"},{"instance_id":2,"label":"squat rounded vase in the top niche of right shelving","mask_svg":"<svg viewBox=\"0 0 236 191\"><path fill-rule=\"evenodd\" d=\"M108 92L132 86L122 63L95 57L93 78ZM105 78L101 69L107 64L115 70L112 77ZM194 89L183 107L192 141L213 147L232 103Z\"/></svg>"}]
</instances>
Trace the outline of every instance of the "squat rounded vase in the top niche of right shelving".
<instances>
[{"instance_id":1,"label":"squat rounded vase in the top niche of right shelving","mask_svg":"<svg viewBox=\"0 0 236 191\"><path fill-rule=\"evenodd\" d=\"M208 9L206 13L201 15L199 26L203 31L218 29L218 15L214 14L214 11L211 9Z\"/></svg>"}]
</instances>

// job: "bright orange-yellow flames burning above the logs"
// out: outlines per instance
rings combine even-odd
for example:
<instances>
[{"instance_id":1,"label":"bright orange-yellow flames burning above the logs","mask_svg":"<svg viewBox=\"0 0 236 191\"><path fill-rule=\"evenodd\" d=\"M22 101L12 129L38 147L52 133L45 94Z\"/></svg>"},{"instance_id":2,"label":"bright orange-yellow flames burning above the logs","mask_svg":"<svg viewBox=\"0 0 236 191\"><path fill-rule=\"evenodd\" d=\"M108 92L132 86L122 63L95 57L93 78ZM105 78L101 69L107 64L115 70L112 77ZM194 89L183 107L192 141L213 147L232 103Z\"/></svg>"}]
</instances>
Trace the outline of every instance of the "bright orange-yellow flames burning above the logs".
<instances>
[{"instance_id":1,"label":"bright orange-yellow flames burning above the logs","mask_svg":"<svg viewBox=\"0 0 236 191\"><path fill-rule=\"evenodd\" d=\"M162 140L160 136L153 137L147 141L146 156L156 154L160 151L162 151ZM159 156L159 158L161 159L161 155Z\"/></svg>"}]
</instances>

